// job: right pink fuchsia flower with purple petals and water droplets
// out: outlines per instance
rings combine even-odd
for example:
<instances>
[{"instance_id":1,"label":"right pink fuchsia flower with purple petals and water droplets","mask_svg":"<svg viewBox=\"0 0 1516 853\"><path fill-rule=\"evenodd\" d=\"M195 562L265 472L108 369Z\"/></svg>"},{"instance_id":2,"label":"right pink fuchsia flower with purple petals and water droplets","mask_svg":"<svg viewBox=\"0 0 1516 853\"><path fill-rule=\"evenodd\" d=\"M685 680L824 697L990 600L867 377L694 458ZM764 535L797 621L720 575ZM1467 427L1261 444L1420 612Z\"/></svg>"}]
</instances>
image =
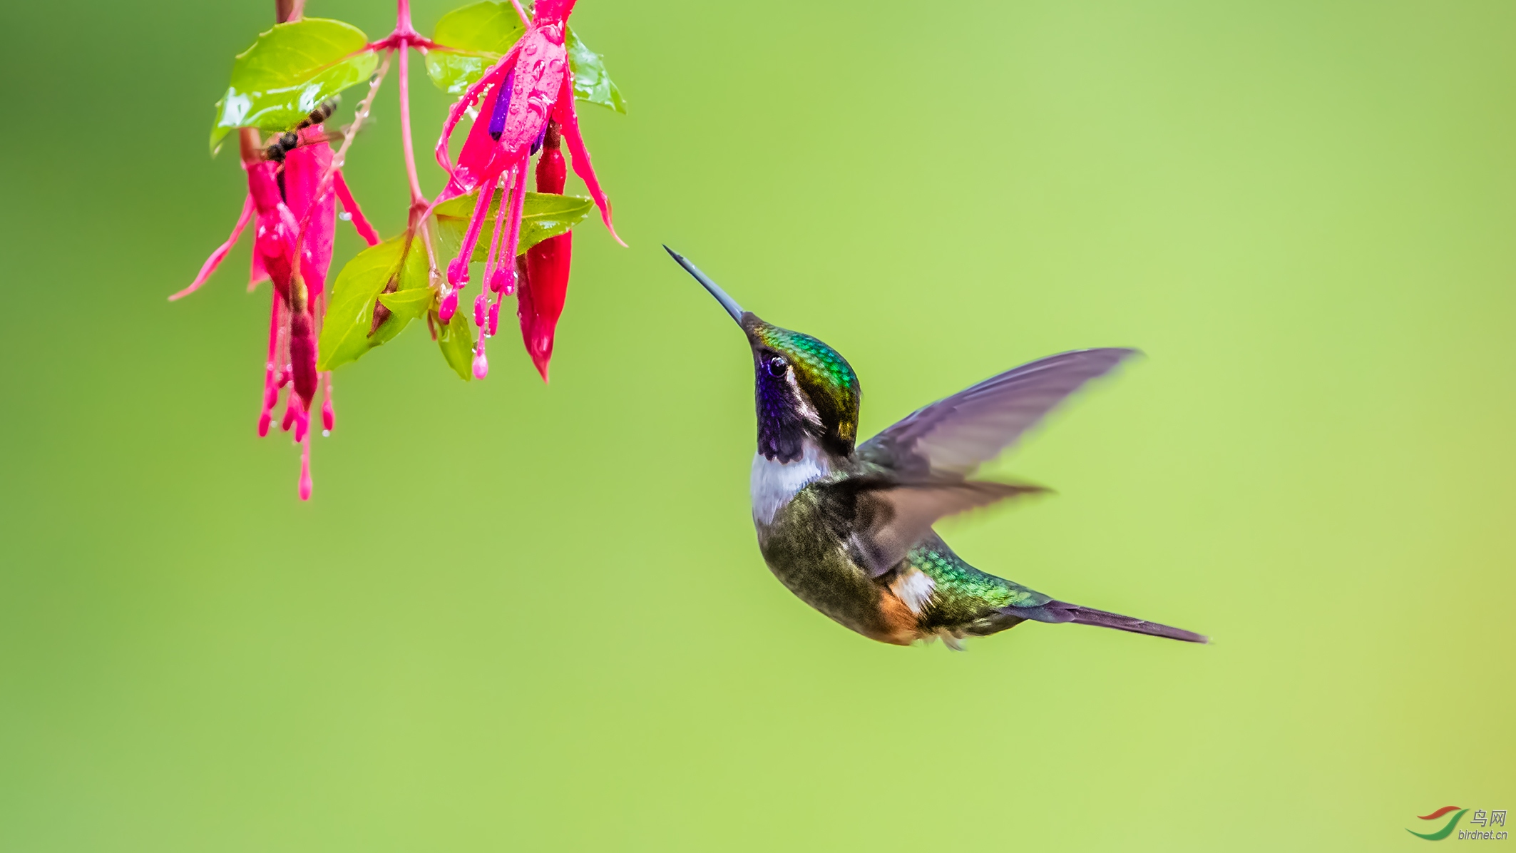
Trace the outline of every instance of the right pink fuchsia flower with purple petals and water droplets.
<instances>
[{"instance_id":1,"label":"right pink fuchsia flower with purple petals and water droplets","mask_svg":"<svg viewBox=\"0 0 1516 853\"><path fill-rule=\"evenodd\" d=\"M438 311L443 323L447 323L458 309L458 291L468 283L468 262L473 258L475 244L496 189L502 189L503 198L509 198L509 212L502 209L502 215L496 217L496 229L485 261L484 277L490 291L494 292L494 305L487 306L488 297L484 292L475 300L479 341L475 345L473 373L479 379L484 379L490 371L485 339L496 330L500 300L515 291L515 255L520 241L522 208L526 198L528 165L531 156L543 144L549 118L562 129L573 170L590 189L590 197L600 209L605 227L617 242L622 242L611 226L611 205L600 189L594 167L590 164L590 152L584 145L584 138L579 133L579 117L575 112L573 71L568 67L568 53L564 47L567 18L573 11L575 0L540 0L535 18L528 18L515 0L512 5L522 15L526 32L453 105L441 139L437 142L437 161L447 170L449 180L432 205L468 192L479 194L459 253L447 265L447 283L443 288ZM476 105L478 118L475 118L458 153L458 164L453 165L447 155L453 129L462 120L464 112ZM535 356L534 361L537 361Z\"/></svg>"}]
</instances>

